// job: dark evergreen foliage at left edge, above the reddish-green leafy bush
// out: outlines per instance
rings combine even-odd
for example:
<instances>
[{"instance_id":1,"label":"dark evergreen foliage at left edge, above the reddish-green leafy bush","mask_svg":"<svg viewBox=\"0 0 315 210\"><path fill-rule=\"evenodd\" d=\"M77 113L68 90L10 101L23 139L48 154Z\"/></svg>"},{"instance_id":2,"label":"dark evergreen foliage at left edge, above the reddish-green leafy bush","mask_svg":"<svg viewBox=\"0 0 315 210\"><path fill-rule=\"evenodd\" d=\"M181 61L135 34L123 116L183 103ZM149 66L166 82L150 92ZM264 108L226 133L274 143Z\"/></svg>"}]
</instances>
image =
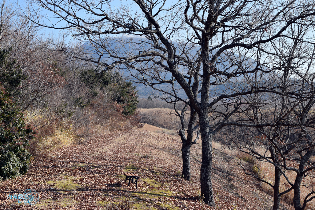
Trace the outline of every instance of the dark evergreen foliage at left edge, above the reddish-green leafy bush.
<instances>
[{"instance_id":1,"label":"dark evergreen foliage at left edge, above the reddish-green leafy bush","mask_svg":"<svg viewBox=\"0 0 315 210\"><path fill-rule=\"evenodd\" d=\"M12 62L6 60L10 51L11 49L0 50L0 82L7 94L14 97L20 94L18 87L26 77L20 69L14 67L15 60Z\"/></svg>"}]
</instances>

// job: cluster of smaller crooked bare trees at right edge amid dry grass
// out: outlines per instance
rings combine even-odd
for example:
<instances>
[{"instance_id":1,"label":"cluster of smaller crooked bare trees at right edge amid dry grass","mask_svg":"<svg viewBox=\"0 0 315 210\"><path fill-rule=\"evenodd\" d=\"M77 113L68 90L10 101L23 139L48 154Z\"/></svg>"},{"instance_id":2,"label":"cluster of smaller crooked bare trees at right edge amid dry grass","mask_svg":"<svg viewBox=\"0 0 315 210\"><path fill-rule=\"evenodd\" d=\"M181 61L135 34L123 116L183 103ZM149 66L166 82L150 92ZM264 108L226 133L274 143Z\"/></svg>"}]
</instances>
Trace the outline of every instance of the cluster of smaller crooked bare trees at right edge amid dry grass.
<instances>
[{"instance_id":1,"label":"cluster of smaller crooked bare trees at right edge amid dry grass","mask_svg":"<svg viewBox=\"0 0 315 210\"><path fill-rule=\"evenodd\" d=\"M269 182L258 173L248 173L273 189L273 210L279 209L280 197L294 191L293 204L296 210L303 210L315 198L312 183L305 178L311 176L315 162L314 111L315 75L313 71L315 42L312 34L313 21L299 20L290 26L286 36L274 40L265 48L265 69L273 68L264 75L248 75L242 88L256 88L268 83L269 93L250 94L237 97L243 103L236 118L238 123L251 124L251 128L233 128L230 140L238 148L258 160L273 164L275 177ZM259 79L257 79L259 77ZM241 85L236 87L241 88ZM256 125L256 126L255 126ZM261 150L261 151L259 151ZM288 178L288 172L295 172L295 180ZM280 191L283 176L289 187ZM303 184L304 182L304 184ZM310 189L301 203L301 185Z\"/></svg>"}]
</instances>

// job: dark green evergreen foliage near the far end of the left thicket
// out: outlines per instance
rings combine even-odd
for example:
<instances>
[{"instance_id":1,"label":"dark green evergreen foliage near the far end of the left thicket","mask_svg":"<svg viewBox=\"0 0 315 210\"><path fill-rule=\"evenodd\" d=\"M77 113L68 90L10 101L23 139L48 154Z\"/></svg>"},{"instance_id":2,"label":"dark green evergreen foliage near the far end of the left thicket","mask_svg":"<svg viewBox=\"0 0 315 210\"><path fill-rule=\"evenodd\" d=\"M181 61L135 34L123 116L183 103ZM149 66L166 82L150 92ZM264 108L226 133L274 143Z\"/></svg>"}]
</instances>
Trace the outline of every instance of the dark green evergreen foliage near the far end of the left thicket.
<instances>
[{"instance_id":1,"label":"dark green evergreen foliage near the far end of the left thicket","mask_svg":"<svg viewBox=\"0 0 315 210\"><path fill-rule=\"evenodd\" d=\"M135 114L138 104L138 95L132 82L126 82L118 72L101 72L98 75L93 69L83 71L81 79L90 89L92 97L97 96L96 88L110 92L112 100L123 106L122 114Z\"/></svg>"}]
</instances>

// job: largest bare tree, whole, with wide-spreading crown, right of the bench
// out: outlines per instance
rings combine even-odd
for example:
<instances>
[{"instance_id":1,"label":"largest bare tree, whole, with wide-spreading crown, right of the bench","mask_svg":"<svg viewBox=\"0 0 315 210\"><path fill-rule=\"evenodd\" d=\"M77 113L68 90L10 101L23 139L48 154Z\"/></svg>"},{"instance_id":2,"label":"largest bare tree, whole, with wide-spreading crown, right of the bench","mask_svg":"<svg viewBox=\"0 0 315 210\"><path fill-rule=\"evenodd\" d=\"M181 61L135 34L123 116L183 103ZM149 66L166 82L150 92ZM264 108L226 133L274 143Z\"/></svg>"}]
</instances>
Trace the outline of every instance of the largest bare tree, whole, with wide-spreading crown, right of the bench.
<instances>
[{"instance_id":1,"label":"largest bare tree, whole, with wide-spreading crown, right of the bench","mask_svg":"<svg viewBox=\"0 0 315 210\"><path fill-rule=\"evenodd\" d=\"M243 74L264 71L249 58L255 57L261 45L283 36L298 20L313 16L314 2L187 0L169 4L166 0L134 0L130 5L123 2L117 7L111 6L114 3L39 0L33 3L34 11L40 8L53 12L58 21L32 20L45 27L69 29L71 36L88 41L93 46L92 54L89 51L74 55L65 51L76 59L90 60L105 70L126 67L133 76L152 87L166 84L169 90L157 89L170 97L176 98L172 86L184 91L186 98L180 100L188 103L188 98L188 105L200 121L201 196L205 203L215 206L211 183L212 137L238 110L230 100L232 97L263 90L252 88L222 94L214 89ZM115 37L121 34L130 36ZM238 62L229 64L231 56L250 68L243 70ZM217 121L210 126L209 112L215 112L221 100L230 101L229 108L216 112Z\"/></svg>"}]
</instances>

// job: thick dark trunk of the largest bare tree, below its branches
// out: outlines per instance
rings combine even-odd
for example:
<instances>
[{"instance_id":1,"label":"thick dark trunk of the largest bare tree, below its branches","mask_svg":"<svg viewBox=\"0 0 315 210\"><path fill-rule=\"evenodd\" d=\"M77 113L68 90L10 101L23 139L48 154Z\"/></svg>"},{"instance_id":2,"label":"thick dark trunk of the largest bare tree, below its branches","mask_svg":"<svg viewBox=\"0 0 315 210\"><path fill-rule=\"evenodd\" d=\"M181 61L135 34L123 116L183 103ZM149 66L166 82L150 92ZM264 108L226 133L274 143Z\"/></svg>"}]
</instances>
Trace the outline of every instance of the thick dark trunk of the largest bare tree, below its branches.
<instances>
[{"instance_id":1,"label":"thick dark trunk of the largest bare tree, below its branches","mask_svg":"<svg viewBox=\"0 0 315 210\"><path fill-rule=\"evenodd\" d=\"M200 188L203 201L215 206L213 189L211 183L212 168L212 133L210 133L208 112L201 111L198 113L200 121L200 132L202 142L202 162L200 169Z\"/></svg>"}]
</instances>

